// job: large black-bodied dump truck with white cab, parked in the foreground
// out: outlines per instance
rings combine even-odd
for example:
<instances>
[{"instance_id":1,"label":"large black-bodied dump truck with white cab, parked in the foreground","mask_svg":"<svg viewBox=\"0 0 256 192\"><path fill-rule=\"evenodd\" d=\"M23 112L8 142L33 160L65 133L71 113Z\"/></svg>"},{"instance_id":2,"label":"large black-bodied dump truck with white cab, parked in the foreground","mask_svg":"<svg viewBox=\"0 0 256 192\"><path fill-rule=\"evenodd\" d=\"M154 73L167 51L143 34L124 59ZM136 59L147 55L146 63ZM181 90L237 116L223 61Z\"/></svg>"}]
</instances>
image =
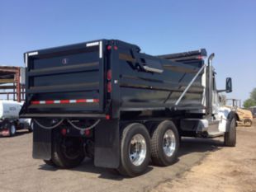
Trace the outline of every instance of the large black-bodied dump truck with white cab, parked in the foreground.
<instances>
[{"instance_id":1,"label":"large black-bodied dump truck with white cab, parked in the foreground","mask_svg":"<svg viewBox=\"0 0 256 192\"><path fill-rule=\"evenodd\" d=\"M176 161L180 138L224 136L236 143L235 111L220 106L206 49L152 56L121 40L27 52L26 102L33 157L51 166L95 166L138 176Z\"/></svg>"}]
</instances>

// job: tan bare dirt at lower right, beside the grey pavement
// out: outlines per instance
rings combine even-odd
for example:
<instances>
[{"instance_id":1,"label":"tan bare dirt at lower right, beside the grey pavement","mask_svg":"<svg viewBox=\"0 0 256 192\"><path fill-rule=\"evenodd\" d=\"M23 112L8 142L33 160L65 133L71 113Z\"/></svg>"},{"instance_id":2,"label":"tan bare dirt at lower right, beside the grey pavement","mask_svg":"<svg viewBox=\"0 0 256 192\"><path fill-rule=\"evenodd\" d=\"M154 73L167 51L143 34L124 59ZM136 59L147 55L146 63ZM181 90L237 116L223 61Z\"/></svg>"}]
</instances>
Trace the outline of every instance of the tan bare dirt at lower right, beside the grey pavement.
<instances>
[{"instance_id":1,"label":"tan bare dirt at lower right, beside the grey pavement","mask_svg":"<svg viewBox=\"0 0 256 192\"><path fill-rule=\"evenodd\" d=\"M254 127L239 127L237 136L236 148L211 152L200 165L152 192L256 191L256 119Z\"/></svg>"}]
</instances>

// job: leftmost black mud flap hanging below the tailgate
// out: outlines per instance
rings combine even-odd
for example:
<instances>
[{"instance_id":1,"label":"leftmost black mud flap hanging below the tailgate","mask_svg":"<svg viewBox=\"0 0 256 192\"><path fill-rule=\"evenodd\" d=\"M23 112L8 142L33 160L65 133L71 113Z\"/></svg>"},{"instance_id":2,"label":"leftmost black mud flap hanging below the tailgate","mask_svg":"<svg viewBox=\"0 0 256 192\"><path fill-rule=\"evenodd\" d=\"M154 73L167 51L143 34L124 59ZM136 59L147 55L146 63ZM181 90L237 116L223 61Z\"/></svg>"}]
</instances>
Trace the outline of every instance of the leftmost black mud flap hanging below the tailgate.
<instances>
[{"instance_id":1,"label":"leftmost black mud flap hanging below the tailgate","mask_svg":"<svg viewBox=\"0 0 256 192\"><path fill-rule=\"evenodd\" d=\"M50 160L51 158L51 129L40 128L34 124L33 158Z\"/></svg>"}]
</instances>

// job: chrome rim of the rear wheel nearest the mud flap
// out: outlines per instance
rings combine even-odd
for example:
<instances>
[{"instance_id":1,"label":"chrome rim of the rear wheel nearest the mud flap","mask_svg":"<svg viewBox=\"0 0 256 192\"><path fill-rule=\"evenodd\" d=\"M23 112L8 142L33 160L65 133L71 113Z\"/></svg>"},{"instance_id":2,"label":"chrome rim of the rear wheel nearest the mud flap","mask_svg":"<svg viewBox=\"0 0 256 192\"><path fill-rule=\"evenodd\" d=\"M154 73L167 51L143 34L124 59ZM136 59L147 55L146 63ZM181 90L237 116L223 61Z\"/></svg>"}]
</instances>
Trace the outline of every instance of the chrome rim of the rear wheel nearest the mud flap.
<instances>
[{"instance_id":1,"label":"chrome rim of the rear wheel nearest the mud flap","mask_svg":"<svg viewBox=\"0 0 256 192\"><path fill-rule=\"evenodd\" d=\"M147 146L145 142L145 138L141 134L135 134L130 139L129 146L129 157L130 162L135 166L140 166L146 157Z\"/></svg>"}]
</instances>

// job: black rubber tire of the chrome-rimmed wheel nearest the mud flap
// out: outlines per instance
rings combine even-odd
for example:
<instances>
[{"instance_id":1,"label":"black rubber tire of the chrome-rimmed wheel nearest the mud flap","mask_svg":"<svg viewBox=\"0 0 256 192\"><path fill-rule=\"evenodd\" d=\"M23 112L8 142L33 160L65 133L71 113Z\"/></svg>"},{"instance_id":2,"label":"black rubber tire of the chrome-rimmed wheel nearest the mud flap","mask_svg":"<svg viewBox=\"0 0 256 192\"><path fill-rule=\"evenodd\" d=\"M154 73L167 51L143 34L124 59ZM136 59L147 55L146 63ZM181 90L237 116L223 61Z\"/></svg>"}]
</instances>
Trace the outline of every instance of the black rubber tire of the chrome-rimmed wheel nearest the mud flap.
<instances>
[{"instance_id":1,"label":"black rubber tire of the chrome-rimmed wheel nearest the mud flap","mask_svg":"<svg viewBox=\"0 0 256 192\"><path fill-rule=\"evenodd\" d=\"M144 139L144 147L145 148L145 157L143 157L142 162L140 164L135 165L135 162L130 160L130 142L134 136L138 136ZM132 147L132 146L131 146ZM129 124L122 132L121 136L121 162L120 166L117 169L121 175L124 176L139 176L145 172L147 167L149 166L149 158L150 158L150 138L149 132L145 128L143 124ZM136 161L136 160L135 160Z\"/></svg>"}]
</instances>

